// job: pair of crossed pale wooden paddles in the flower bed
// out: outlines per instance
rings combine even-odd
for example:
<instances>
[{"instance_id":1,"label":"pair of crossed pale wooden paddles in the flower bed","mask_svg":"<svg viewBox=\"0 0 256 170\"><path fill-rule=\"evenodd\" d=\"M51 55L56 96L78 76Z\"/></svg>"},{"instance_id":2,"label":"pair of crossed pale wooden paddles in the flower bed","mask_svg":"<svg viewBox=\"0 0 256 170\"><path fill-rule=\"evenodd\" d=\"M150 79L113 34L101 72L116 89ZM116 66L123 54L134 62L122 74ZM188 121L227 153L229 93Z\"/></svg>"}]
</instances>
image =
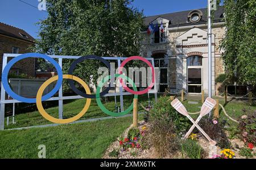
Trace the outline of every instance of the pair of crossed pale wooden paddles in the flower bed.
<instances>
[{"instance_id":1,"label":"pair of crossed pale wooden paddles in the flower bed","mask_svg":"<svg viewBox=\"0 0 256 170\"><path fill-rule=\"evenodd\" d=\"M176 109L180 114L184 115L185 117L187 117L192 123L193 126L189 129L189 131L187 132L187 134L184 136L184 139L187 139L189 134L191 134L191 132L193 131L193 129L195 127L198 128L198 130L205 136L205 138L207 138L210 142L210 145L215 146L216 142L212 139L210 139L210 137L204 132L204 130L197 125L197 123L200 121L200 119L202 117L204 117L205 115L207 115L210 110L213 109L213 107L216 105L216 101L210 97L208 97L203 106L201 107L201 111L200 111L200 115L199 117L196 119L196 121L194 121L190 115L188 114L187 109L185 108L185 106L179 101L179 99L174 99L174 101L171 102L172 107L174 107L174 109Z\"/></svg>"}]
</instances>

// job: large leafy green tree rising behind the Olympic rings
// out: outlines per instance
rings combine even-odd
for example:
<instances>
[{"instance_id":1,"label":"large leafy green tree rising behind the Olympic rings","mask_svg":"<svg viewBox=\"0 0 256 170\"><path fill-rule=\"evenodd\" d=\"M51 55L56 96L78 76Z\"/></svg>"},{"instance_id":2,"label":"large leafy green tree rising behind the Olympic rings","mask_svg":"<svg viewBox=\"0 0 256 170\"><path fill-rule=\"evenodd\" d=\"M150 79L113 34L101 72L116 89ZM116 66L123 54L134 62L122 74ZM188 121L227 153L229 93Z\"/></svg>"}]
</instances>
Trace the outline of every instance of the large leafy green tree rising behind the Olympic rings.
<instances>
[{"instance_id":1,"label":"large leafy green tree rising behind the Olympic rings","mask_svg":"<svg viewBox=\"0 0 256 170\"><path fill-rule=\"evenodd\" d=\"M39 22L36 51L48 55L138 55L143 14L132 0L48 0L48 18ZM73 60L63 61L66 74ZM74 75L97 80L100 61L77 65ZM64 89L68 88L64 86Z\"/></svg>"}]
</instances>

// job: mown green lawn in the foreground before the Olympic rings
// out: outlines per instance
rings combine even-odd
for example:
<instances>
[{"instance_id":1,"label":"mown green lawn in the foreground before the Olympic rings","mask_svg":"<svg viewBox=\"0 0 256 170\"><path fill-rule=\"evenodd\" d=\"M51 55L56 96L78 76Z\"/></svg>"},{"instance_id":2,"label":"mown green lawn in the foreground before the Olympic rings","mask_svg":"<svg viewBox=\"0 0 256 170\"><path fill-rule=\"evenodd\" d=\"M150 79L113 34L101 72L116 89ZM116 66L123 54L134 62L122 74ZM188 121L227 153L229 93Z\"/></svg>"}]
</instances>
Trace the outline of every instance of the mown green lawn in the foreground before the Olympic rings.
<instances>
[{"instance_id":1,"label":"mown green lawn in the foreground before the Olympic rings","mask_svg":"<svg viewBox=\"0 0 256 170\"><path fill-rule=\"evenodd\" d=\"M142 119L142 116L139 117ZM108 119L56 127L0 131L0 158L101 158L106 148L131 125L133 118Z\"/></svg>"}]
</instances>

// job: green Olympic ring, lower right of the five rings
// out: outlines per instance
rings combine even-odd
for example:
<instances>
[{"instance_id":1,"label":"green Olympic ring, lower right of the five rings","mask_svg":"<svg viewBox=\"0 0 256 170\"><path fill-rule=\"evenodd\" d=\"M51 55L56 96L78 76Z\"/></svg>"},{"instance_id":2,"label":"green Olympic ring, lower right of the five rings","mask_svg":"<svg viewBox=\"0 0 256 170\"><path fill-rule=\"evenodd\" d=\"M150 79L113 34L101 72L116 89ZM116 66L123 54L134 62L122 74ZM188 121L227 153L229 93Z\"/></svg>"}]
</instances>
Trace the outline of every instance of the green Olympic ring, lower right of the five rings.
<instances>
[{"instance_id":1,"label":"green Olympic ring, lower right of the five rings","mask_svg":"<svg viewBox=\"0 0 256 170\"><path fill-rule=\"evenodd\" d=\"M125 80L127 80L128 82L132 83L133 84L133 89L135 92L137 92L137 87L135 85L135 83L133 82L133 80L131 80L129 77L123 75L123 74L115 74L115 78L117 77L121 77ZM131 105L128 107L128 109L126 109L125 111L122 111L120 113L114 113L113 111L109 111L108 109L106 109L106 107L102 104L101 102L101 98L100 98L100 90L101 88L103 87L103 85L109 81L111 79L111 76L106 76L102 81L100 81L100 83L98 84L98 87L97 87L97 90L96 90L96 101L97 101L97 104L98 106L100 107L100 109L110 115L110 116L113 116L113 117L121 117L122 115L126 115L128 114L131 110L133 110L133 103L131 103ZM138 98L138 95L135 94L134 95L134 98Z\"/></svg>"}]
</instances>

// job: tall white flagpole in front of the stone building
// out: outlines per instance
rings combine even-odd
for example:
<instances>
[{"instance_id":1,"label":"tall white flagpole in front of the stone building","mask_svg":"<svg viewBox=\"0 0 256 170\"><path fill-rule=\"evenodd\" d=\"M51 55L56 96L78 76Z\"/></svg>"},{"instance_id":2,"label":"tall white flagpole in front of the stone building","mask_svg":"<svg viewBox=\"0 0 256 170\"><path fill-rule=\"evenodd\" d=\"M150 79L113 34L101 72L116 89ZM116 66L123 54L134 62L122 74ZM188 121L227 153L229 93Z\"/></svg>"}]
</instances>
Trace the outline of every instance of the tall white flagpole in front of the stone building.
<instances>
[{"instance_id":1,"label":"tall white flagpole in front of the stone building","mask_svg":"<svg viewBox=\"0 0 256 170\"><path fill-rule=\"evenodd\" d=\"M208 96L212 97L212 21L210 17L210 0L208 0ZM209 117L212 113L209 113Z\"/></svg>"}]
</instances>

